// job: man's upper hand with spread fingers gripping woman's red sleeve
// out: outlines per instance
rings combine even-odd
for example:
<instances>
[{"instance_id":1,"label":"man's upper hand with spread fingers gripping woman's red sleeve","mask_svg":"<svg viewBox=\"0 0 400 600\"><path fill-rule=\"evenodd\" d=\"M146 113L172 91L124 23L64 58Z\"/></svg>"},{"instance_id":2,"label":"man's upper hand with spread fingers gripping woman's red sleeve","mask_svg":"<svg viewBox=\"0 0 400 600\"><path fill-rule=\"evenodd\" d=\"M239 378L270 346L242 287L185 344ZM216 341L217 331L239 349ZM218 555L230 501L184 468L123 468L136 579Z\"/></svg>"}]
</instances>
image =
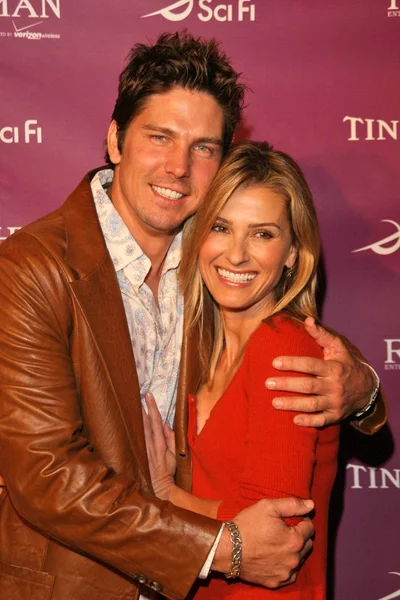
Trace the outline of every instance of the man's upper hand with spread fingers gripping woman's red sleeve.
<instances>
[{"instance_id":1,"label":"man's upper hand with spread fingers gripping woman's red sleeve","mask_svg":"<svg viewBox=\"0 0 400 600\"><path fill-rule=\"evenodd\" d=\"M302 412L294 417L297 425L323 427L332 425L361 410L374 389L371 370L352 356L340 338L316 325L311 317L305 321L307 332L323 348L324 360L279 356L273 366L282 371L297 371L316 377L274 377L266 381L270 390L305 394L277 397L272 404L281 410Z\"/></svg>"}]
</instances>

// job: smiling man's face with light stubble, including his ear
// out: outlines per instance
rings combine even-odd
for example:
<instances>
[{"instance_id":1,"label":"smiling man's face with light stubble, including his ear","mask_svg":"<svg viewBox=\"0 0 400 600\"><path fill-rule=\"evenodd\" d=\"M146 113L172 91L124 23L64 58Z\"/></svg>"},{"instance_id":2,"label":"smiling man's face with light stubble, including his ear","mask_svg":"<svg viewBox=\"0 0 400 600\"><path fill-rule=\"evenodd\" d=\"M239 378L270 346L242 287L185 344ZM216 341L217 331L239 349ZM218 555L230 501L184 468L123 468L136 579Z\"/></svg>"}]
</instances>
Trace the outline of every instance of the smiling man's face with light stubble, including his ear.
<instances>
[{"instance_id":1,"label":"smiling man's face with light stubble, including his ear","mask_svg":"<svg viewBox=\"0 0 400 600\"><path fill-rule=\"evenodd\" d=\"M134 235L173 235L196 212L221 162L222 133L216 100L178 86L150 96L128 127L121 152L111 123L111 198Z\"/></svg>"}]
</instances>

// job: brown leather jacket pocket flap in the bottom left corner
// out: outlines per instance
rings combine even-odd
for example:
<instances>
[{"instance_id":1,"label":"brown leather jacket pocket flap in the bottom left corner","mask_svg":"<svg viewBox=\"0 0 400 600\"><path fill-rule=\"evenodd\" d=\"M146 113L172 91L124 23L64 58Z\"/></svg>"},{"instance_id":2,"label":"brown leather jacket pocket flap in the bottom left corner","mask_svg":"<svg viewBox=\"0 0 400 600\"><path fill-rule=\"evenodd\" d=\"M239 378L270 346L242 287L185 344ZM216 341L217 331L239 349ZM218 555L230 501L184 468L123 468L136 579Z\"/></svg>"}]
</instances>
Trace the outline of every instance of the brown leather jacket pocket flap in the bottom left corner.
<instances>
[{"instance_id":1,"label":"brown leather jacket pocket flap in the bottom left corner","mask_svg":"<svg viewBox=\"0 0 400 600\"><path fill-rule=\"evenodd\" d=\"M0 560L1 600L50 600L55 576Z\"/></svg>"}]
</instances>

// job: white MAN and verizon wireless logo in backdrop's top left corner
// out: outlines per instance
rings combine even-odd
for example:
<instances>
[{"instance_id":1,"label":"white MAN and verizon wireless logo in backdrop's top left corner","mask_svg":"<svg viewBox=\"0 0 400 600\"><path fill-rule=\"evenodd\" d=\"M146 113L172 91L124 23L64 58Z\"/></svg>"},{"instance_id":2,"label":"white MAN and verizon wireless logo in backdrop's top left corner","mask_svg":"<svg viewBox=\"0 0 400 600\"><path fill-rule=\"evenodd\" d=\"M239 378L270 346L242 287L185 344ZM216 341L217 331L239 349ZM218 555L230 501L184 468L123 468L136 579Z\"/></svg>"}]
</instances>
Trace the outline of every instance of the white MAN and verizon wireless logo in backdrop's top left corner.
<instances>
[{"instance_id":1,"label":"white MAN and verizon wireless logo in backdrop's top left corner","mask_svg":"<svg viewBox=\"0 0 400 600\"><path fill-rule=\"evenodd\" d=\"M0 0L0 37L26 40L58 40L61 0ZM54 29L53 29L54 28Z\"/></svg>"}]
</instances>

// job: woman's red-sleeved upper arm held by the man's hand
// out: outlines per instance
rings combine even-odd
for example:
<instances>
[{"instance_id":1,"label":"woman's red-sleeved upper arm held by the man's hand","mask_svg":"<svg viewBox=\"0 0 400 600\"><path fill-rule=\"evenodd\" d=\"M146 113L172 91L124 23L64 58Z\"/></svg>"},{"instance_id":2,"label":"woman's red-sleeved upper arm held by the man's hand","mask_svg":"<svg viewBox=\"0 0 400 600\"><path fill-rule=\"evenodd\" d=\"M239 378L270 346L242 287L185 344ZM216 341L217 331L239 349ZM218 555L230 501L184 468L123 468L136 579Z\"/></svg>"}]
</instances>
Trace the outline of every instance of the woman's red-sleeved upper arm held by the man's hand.
<instances>
[{"instance_id":1,"label":"woman's red-sleeved upper arm held by the man's hand","mask_svg":"<svg viewBox=\"0 0 400 600\"><path fill-rule=\"evenodd\" d=\"M338 427L298 427L293 413L273 408L274 393L265 389L264 379L268 371L274 375L271 363L276 353L319 358L321 350L302 325L288 320L278 322L276 328L263 324L250 339L242 369L247 436L240 498L221 502L217 513L220 519L232 518L261 498L309 498L317 461L328 465L328 494L333 483ZM295 372L291 375L299 376Z\"/></svg>"}]
</instances>

